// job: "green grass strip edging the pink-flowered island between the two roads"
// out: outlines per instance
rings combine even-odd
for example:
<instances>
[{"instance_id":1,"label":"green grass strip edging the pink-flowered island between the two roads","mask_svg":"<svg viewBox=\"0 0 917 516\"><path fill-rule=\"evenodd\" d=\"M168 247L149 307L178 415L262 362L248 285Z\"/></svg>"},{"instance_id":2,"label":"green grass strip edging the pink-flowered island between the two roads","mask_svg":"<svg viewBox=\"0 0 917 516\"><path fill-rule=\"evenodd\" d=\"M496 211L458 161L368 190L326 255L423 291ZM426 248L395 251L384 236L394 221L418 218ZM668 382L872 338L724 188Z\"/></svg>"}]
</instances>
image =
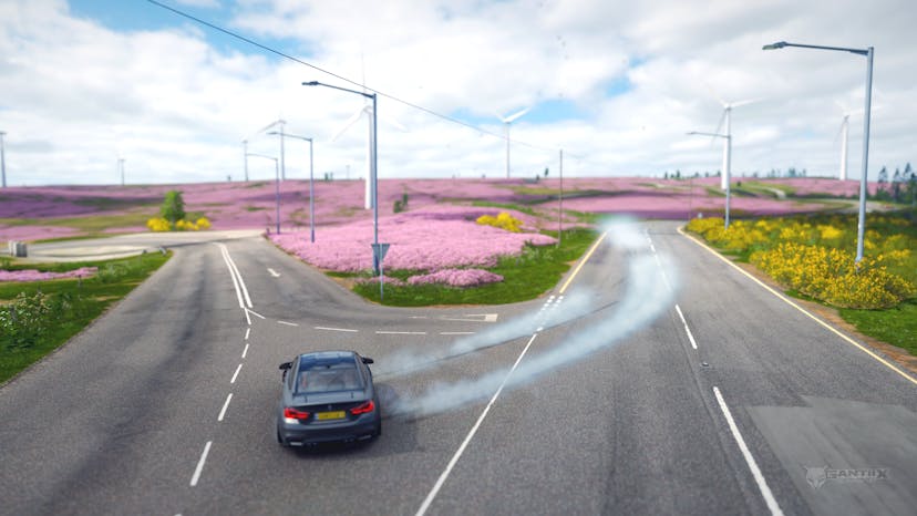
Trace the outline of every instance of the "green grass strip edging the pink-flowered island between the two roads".
<instances>
[{"instance_id":1,"label":"green grass strip edging the pink-flowered island between the two roads","mask_svg":"<svg viewBox=\"0 0 917 516\"><path fill-rule=\"evenodd\" d=\"M556 233L549 233L557 236ZM491 272L503 276L498 283L475 288L454 288L436 285L395 287L385 285L383 305L398 307L425 307L435 305L504 305L535 299L554 288L563 275L570 268L595 241L594 229L576 228L564 231L561 245L527 246L519 257L505 257ZM406 279L418 271L385 271L387 276ZM357 275L336 274L337 277ZM364 298L379 302L379 285L357 285L353 291Z\"/></svg>"}]
</instances>

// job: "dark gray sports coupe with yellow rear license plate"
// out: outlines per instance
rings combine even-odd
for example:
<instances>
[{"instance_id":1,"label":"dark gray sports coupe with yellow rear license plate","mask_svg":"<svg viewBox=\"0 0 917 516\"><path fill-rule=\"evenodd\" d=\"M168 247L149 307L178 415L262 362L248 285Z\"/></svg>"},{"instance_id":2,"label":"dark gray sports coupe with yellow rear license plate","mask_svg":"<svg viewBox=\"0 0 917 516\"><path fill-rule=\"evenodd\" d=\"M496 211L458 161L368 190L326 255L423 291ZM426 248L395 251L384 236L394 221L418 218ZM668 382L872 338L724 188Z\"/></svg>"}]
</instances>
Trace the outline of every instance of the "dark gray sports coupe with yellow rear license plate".
<instances>
[{"instance_id":1,"label":"dark gray sports coupe with yellow rear license plate","mask_svg":"<svg viewBox=\"0 0 917 516\"><path fill-rule=\"evenodd\" d=\"M281 363L277 442L303 446L381 435L372 362L353 351L319 351Z\"/></svg>"}]
</instances>

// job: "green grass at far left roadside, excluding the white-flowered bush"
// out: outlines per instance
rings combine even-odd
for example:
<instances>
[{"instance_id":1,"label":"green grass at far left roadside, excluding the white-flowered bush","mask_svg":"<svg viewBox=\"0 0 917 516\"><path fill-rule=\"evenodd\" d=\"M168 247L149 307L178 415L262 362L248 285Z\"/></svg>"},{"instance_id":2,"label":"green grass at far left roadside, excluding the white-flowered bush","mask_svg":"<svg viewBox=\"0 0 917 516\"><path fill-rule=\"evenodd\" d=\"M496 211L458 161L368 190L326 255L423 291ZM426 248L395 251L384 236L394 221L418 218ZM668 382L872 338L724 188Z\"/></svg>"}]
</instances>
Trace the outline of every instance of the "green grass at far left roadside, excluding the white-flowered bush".
<instances>
[{"instance_id":1,"label":"green grass at far left roadside, excluding the white-flowered bush","mask_svg":"<svg viewBox=\"0 0 917 516\"><path fill-rule=\"evenodd\" d=\"M99 274L89 279L58 279L32 282L0 283L0 303L9 303L20 293L33 296L41 291L65 298L70 309L56 314L41 328L29 344L13 345L8 330L0 333L0 383L9 380L79 333L106 308L124 298L151 274L165 264L172 254L151 252L105 261L68 264L29 264L6 266L7 270L39 269L63 272L80 267L99 267Z\"/></svg>"}]
</instances>

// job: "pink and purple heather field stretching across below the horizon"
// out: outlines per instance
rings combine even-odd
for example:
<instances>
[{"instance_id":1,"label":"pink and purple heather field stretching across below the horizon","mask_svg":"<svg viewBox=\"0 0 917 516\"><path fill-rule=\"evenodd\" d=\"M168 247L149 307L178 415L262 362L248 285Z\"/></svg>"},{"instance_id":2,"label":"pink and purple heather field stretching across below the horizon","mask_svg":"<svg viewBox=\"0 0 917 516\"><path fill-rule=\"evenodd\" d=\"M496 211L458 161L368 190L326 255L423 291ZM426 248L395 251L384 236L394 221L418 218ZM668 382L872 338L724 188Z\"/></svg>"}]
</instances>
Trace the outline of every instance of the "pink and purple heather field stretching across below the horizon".
<instances>
[{"instance_id":1,"label":"pink and purple heather field stretching across below the horizon","mask_svg":"<svg viewBox=\"0 0 917 516\"><path fill-rule=\"evenodd\" d=\"M759 186L789 189L795 195L851 196L855 180L830 178L751 179ZM555 229L560 180L542 179L381 179L379 184L379 241L391 244L385 267L427 271L429 279L451 285L485 278L449 269L488 267L501 255L516 255L525 242L547 245L538 234ZM687 219L698 213L722 211L715 195L719 178L565 178L563 207L567 210L629 214L637 217ZM167 190L183 193L185 210L203 215L213 230L275 226L274 182L208 183L142 186L10 187L0 193L0 239L32 241L94 233L146 231L146 218L156 217ZM872 185L870 189L874 189ZM393 213L408 196L406 209ZM474 202L527 206L530 214L499 207L476 207ZM732 209L748 215L814 211L824 205L811 199L776 199L769 195L733 196ZM482 226L481 215L509 211L523 223L523 233ZM280 184L281 235L272 241L288 252L323 269L356 271L370 267L372 210L363 209L363 183L315 183L316 242L309 241L309 183ZM570 214L565 227L577 225ZM86 224L86 221L92 224ZM102 224L100 224L102 221ZM110 221L111 224L105 224ZM440 276L435 276L439 274ZM451 275L451 276L450 276ZM419 276L419 278L425 278ZM451 278L451 279L450 279ZM475 279L477 278L477 279ZM481 279L486 281L486 279ZM491 279L493 280L493 279Z\"/></svg>"}]
</instances>

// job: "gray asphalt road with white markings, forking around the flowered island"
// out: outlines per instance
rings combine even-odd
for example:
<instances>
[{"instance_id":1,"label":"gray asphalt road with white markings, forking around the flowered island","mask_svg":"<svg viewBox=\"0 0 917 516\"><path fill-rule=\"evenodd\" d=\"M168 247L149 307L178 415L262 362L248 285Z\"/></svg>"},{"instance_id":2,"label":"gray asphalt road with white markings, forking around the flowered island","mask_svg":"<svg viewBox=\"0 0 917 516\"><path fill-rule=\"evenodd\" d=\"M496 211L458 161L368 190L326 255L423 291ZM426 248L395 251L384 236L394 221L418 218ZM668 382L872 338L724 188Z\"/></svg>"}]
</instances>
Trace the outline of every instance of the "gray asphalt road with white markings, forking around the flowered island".
<instances>
[{"instance_id":1,"label":"gray asphalt road with white markings, forking around the flowered island","mask_svg":"<svg viewBox=\"0 0 917 516\"><path fill-rule=\"evenodd\" d=\"M185 242L0 389L0 513L914 514L914 379L676 224L645 229L542 299L449 309L367 303L257 237ZM635 292L640 256L670 257L652 285L680 288L620 334L655 303ZM394 373L405 353L497 329L508 337ZM372 443L280 448L277 365L337 348L377 360L389 412L429 411L389 413ZM526 379L552 352L564 363ZM482 395L427 395L457 382Z\"/></svg>"}]
</instances>

